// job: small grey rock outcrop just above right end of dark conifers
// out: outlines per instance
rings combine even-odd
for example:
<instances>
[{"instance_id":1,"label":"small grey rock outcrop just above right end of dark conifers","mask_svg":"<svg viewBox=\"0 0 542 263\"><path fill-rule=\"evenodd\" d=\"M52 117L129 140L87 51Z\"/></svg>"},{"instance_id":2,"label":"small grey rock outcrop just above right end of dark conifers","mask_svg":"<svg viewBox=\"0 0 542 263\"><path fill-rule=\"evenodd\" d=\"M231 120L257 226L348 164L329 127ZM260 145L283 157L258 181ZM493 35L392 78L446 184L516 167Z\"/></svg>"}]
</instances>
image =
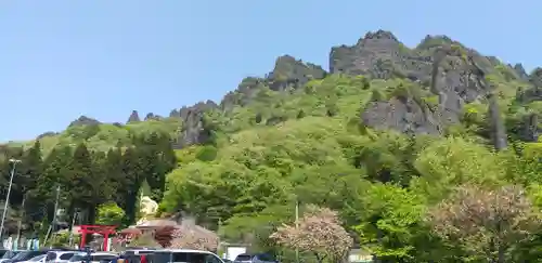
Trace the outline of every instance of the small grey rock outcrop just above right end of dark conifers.
<instances>
[{"instance_id":1,"label":"small grey rock outcrop just above right end of dark conifers","mask_svg":"<svg viewBox=\"0 0 542 263\"><path fill-rule=\"evenodd\" d=\"M211 139L209 127L205 123L205 113L218 108L212 101L199 102L192 107L182 107L179 116L183 120L182 132L173 145L175 148L183 148L194 144L205 144Z\"/></svg>"}]
</instances>

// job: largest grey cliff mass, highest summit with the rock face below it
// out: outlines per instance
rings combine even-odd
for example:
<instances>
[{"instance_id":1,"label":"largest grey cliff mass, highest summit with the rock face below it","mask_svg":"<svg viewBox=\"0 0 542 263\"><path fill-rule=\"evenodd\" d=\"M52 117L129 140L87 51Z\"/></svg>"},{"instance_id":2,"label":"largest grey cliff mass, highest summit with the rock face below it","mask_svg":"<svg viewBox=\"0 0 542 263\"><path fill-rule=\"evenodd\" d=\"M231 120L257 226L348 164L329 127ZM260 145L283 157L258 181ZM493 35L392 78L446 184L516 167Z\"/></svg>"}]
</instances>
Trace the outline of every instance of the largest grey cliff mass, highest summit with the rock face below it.
<instances>
[{"instance_id":1,"label":"largest grey cliff mass, highest summit with the rock face below it","mask_svg":"<svg viewBox=\"0 0 542 263\"><path fill-rule=\"evenodd\" d=\"M486 97L490 88L485 84L485 75L493 70L492 64L448 37L427 36L415 50L410 50L391 32L378 30L369 32L353 47L333 48L330 70L373 78L404 76L429 86L439 96L437 109L413 97L395 97L370 103L362 121L379 129L440 134L448 124L460 121L465 103Z\"/></svg>"}]
</instances>

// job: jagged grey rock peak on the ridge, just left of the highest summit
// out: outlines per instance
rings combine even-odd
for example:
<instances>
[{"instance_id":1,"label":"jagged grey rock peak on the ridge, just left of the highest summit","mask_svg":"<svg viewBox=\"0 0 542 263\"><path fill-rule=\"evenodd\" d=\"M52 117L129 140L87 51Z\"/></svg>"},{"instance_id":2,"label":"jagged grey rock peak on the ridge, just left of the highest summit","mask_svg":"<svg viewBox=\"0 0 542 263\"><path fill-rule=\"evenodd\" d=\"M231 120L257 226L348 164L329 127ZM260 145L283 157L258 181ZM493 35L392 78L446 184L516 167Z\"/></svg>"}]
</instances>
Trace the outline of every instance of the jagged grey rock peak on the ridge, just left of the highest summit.
<instances>
[{"instance_id":1,"label":"jagged grey rock peak on the ridge, just left of the highest summit","mask_svg":"<svg viewBox=\"0 0 542 263\"><path fill-rule=\"evenodd\" d=\"M235 91L229 92L222 98L220 105L228 111L235 105L245 106L250 103L259 91L258 88L269 87L274 91L297 89L311 79L323 79L326 75L321 66L283 55L276 58L273 70L264 78L244 78Z\"/></svg>"}]
</instances>

